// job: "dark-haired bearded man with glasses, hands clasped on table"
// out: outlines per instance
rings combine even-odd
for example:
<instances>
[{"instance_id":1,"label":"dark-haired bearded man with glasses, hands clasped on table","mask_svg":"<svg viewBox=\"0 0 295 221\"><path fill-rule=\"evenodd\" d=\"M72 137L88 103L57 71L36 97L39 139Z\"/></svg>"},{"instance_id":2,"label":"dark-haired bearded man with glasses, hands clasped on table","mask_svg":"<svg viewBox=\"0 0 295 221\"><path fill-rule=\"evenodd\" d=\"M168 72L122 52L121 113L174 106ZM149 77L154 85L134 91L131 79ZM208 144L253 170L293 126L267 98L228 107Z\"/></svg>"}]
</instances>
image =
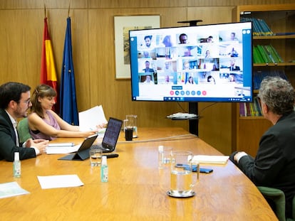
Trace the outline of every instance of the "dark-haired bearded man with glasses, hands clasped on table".
<instances>
[{"instance_id":1,"label":"dark-haired bearded man with glasses, hands clasped on table","mask_svg":"<svg viewBox=\"0 0 295 221\"><path fill-rule=\"evenodd\" d=\"M7 82L0 86L0 160L14 161L14 152L19 158L33 158L45 152L48 141L28 139L19 143L16 131L17 119L27 117L31 107L31 87L19 82Z\"/></svg>"}]
</instances>

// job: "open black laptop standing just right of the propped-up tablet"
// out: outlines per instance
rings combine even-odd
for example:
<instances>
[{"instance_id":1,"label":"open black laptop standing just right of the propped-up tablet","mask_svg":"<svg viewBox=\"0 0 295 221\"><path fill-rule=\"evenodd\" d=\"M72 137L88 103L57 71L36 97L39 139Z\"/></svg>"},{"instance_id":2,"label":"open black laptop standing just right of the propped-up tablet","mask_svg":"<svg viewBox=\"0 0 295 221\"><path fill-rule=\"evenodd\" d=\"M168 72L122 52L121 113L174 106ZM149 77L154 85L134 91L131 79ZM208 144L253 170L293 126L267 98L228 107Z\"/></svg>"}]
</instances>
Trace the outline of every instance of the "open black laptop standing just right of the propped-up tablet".
<instances>
[{"instance_id":1,"label":"open black laptop standing just right of the propped-up tablet","mask_svg":"<svg viewBox=\"0 0 295 221\"><path fill-rule=\"evenodd\" d=\"M122 120L110 117L108 120L108 126L105 129L103 141L101 144L94 144L93 147L102 149L103 153L111 153L115 151L115 145L117 144L122 124Z\"/></svg>"}]
</instances>

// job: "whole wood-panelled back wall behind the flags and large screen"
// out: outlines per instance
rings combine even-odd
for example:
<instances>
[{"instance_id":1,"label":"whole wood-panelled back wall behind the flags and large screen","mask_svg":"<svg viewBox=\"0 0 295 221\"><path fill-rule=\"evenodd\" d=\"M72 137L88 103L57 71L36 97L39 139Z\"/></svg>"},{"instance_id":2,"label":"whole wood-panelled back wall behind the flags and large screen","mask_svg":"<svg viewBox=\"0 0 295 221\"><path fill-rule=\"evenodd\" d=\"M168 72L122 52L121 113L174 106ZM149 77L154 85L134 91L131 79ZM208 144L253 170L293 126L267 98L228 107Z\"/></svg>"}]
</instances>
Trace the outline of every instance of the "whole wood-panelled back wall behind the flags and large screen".
<instances>
[{"instance_id":1,"label":"whole wood-panelled back wall behind the flags and large screen","mask_svg":"<svg viewBox=\"0 0 295 221\"><path fill-rule=\"evenodd\" d=\"M130 80L115 80L113 16L160 14L161 26L183 26L177 21L202 19L200 24L232 21L233 6L242 4L283 4L282 0L71 0L73 63L78 109L102 104L106 117L123 119L138 114L138 126L181 126L187 121L165 119L187 111L187 104L175 102L131 102ZM39 83L44 3L53 43L58 80L61 78L63 44L68 16L68 0L0 0L0 84ZM232 149L231 104L200 103L200 137L222 153ZM140 132L139 132L140 133Z\"/></svg>"}]
</instances>

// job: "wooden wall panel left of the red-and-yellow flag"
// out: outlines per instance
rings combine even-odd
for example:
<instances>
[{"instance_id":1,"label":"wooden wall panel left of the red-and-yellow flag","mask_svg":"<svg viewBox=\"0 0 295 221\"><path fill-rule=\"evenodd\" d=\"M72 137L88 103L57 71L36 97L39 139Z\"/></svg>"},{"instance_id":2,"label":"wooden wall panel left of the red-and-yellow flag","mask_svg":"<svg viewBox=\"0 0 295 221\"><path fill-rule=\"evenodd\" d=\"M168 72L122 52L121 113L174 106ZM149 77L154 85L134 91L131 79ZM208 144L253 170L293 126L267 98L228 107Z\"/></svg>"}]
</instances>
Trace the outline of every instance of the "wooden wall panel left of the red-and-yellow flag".
<instances>
[{"instance_id":1,"label":"wooden wall panel left of the red-and-yellow flag","mask_svg":"<svg viewBox=\"0 0 295 221\"><path fill-rule=\"evenodd\" d=\"M31 85L39 79L42 19L41 10L0 12L0 83L22 81Z\"/></svg>"}]
</instances>

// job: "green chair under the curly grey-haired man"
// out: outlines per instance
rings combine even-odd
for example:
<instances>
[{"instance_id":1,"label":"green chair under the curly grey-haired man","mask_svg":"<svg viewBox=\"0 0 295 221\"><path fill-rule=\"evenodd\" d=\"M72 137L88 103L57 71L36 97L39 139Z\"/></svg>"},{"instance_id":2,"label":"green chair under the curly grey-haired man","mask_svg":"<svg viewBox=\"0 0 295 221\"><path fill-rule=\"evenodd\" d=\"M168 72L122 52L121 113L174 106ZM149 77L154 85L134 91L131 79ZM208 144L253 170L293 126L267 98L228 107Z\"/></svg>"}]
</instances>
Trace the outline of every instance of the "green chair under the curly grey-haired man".
<instances>
[{"instance_id":1,"label":"green chair under the curly grey-haired man","mask_svg":"<svg viewBox=\"0 0 295 221\"><path fill-rule=\"evenodd\" d=\"M285 194L283 191L276 188L269 188L266 186L257 186L259 191L264 195L264 198L270 200L275 205L275 214L278 217L279 221L294 221L295 217L295 196L292 201L292 216L293 219L286 219L285 216Z\"/></svg>"}]
</instances>

